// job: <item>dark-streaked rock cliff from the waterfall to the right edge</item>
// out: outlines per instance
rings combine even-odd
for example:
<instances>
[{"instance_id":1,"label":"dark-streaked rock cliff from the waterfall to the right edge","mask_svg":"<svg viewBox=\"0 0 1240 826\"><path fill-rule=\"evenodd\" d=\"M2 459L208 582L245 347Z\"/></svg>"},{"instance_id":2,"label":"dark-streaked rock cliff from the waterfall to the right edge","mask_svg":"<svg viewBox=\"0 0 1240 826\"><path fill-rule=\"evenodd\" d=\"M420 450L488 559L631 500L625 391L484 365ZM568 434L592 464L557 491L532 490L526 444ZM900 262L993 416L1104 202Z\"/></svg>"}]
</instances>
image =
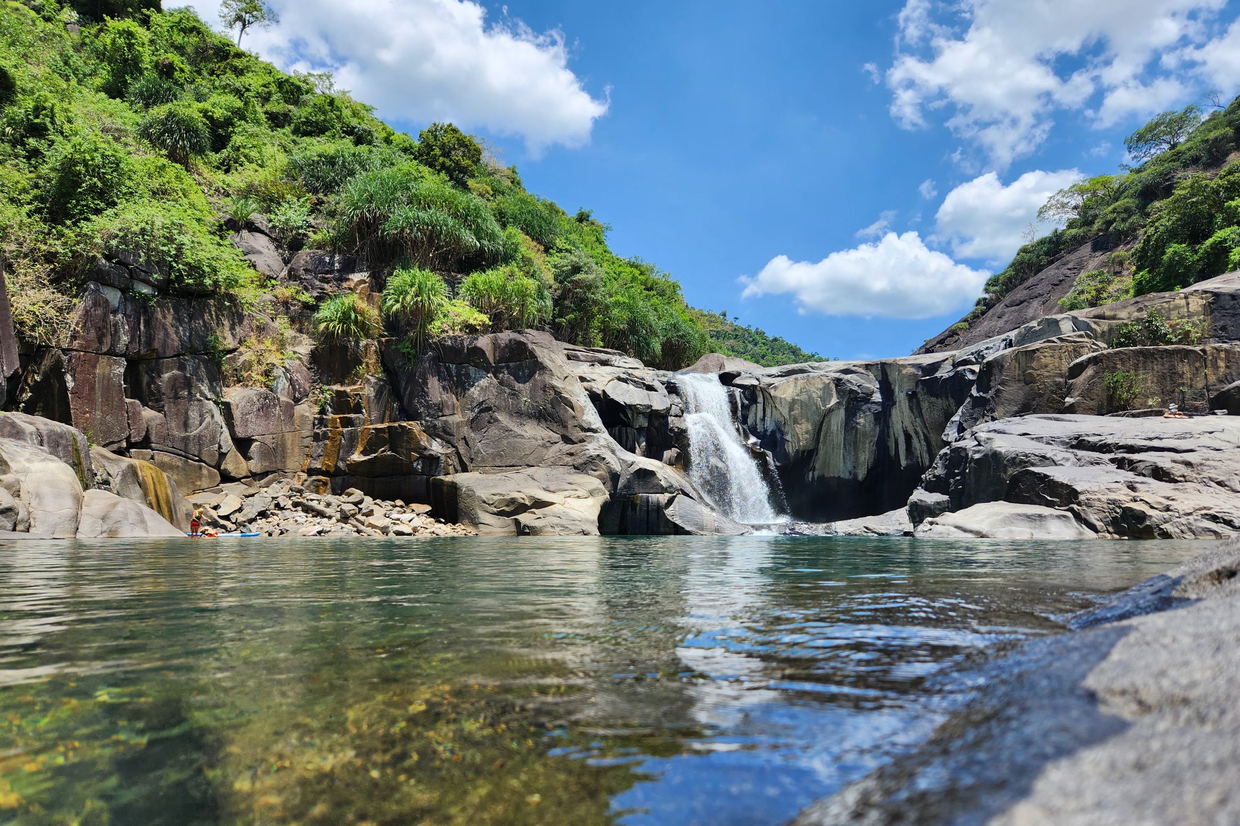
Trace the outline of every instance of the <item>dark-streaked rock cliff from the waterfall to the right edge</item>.
<instances>
[{"instance_id":1,"label":"dark-streaked rock cliff from the waterfall to the right edge","mask_svg":"<svg viewBox=\"0 0 1240 826\"><path fill-rule=\"evenodd\" d=\"M955 352L720 376L733 387L749 432L774 456L794 518L835 522L908 505L920 525L949 511L934 501L934 482L914 492L923 474L940 451L987 423L1028 414L1132 415L1133 408L1161 415L1171 406L1198 414L1240 412L1240 345L1233 344L1240 339L1238 308L1240 274L1233 273L1177 293L1039 318ZM1110 349L1122 325L1151 309L1199 325L1210 337L1199 346ZM1003 491L991 499L1003 499ZM990 500L950 510L982 501ZM1045 522L1047 532L1059 531L1049 527L1053 522ZM1149 530L1157 536L1230 531L1207 522ZM1121 532L1114 520L1087 530L1137 535Z\"/></svg>"}]
</instances>

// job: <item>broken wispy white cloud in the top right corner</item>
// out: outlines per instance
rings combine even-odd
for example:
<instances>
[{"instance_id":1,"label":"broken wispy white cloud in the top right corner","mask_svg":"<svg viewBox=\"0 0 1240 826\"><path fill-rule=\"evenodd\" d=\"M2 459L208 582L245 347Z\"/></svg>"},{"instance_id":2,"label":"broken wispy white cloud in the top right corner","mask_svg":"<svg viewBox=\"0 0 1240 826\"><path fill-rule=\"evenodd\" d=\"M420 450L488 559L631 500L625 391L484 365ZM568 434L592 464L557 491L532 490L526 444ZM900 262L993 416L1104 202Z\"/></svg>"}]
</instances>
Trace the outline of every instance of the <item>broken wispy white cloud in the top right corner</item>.
<instances>
[{"instance_id":1,"label":"broken wispy white cloud in the top right corner","mask_svg":"<svg viewBox=\"0 0 1240 826\"><path fill-rule=\"evenodd\" d=\"M1058 109L1107 127L1184 100L1203 76L1234 91L1240 31L1216 31L1226 2L961 0L937 12L908 0L887 72L892 114L918 128L946 107L946 125L1006 169L1047 139Z\"/></svg>"}]
</instances>

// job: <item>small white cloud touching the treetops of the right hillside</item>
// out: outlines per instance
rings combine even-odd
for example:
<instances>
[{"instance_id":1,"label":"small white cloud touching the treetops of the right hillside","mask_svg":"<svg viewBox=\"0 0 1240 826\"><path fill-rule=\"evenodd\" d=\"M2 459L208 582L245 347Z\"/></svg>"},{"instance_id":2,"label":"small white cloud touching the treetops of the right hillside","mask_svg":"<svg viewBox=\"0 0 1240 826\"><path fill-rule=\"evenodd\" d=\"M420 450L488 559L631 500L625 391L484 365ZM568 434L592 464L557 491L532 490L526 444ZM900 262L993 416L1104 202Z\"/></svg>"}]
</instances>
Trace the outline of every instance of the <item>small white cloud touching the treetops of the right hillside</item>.
<instances>
[{"instance_id":1,"label":"small white cloud touching the treetops of the right hillside","mask_svg":"<svg viewBox=\"0 0 1240 826\"><path fill-rule=\"evenodd\" d=\"M1055 224L1038 221L1038 210L1052 195L1084 177L1075 169L1025 172L1003 186L987 172L961 184L944 198L935 216L934 241L951 244L957 258L1006 263L1028 243L1029 227L1044 236Z\"/></svg>"}]
</instances>

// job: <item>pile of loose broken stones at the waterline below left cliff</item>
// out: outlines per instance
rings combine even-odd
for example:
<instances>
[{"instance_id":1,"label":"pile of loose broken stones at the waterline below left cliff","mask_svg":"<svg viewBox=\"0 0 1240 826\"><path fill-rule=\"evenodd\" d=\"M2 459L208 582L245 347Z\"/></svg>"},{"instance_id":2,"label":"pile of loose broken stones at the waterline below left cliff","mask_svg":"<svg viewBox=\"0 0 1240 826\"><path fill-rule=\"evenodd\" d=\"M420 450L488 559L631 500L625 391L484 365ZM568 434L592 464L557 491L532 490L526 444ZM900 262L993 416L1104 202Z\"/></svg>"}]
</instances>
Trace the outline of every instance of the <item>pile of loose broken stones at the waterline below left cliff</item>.
<instances>
[{"instance_id":1,"label":"pile of loose broken stones at the waterline below left cliff","mask_svg":"<svg viewBox=\"0 0 1240 826\"><path fill-rule=\"evenodd\" d=\"M339 496L308 494L281 480L269 487L222 485L197 494L190 504L202 508L202 527L221 532L265 536L477 536L463 525L432 518L429 505L374 500L356 487Z\"/></svg>"}]
</instances>

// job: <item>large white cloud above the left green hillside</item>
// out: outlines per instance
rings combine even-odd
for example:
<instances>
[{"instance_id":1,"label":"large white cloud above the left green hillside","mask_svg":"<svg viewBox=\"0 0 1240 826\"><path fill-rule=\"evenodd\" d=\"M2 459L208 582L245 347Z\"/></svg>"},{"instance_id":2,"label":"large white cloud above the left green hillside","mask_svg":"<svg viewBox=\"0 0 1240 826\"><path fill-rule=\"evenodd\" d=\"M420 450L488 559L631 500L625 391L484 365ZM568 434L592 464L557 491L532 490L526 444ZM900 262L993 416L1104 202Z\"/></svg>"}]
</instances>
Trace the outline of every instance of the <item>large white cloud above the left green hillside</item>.
<instances>
[{"instance_id":1,"label":"large white cloud above the left green hillside","mask_svg":"<svg viewBox=\"0 0 1240 826\"><path fill-rule=\"evenodd\" d=\"M218 4L195 0L216 24ZM589 141L608 102L568 67L559 31L487 22L470 0L272 0L280 24L242 46L284 69L331 71L384 119L451 120L525 138L531 153Z\"/></svg>"}]
</instances>

